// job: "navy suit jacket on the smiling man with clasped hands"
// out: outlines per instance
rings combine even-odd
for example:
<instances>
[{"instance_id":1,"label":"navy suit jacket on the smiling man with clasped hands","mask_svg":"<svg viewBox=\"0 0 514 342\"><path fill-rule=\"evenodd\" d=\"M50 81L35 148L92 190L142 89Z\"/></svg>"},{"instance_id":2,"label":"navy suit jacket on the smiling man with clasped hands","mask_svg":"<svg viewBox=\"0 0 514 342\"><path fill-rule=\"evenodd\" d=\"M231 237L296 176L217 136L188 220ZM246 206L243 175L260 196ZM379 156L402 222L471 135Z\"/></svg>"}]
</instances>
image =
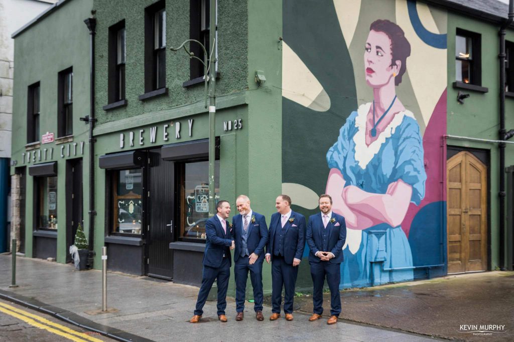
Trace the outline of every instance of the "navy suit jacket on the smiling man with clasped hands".
<instances>
[{"instance_id":1,"label":"navy suit jacket on the smiling man with clasped hands","mask_svg":"<svg viewBox=\"0 0 514 342\"><path fill-rule=\"evenodd\" d=\"M331 252L334 257L329 260L332 264L340 264L343 261L343 251L341 248L344 246L346 241L346 223L344 217L332 212L332 218L335 220L334 223L328 222L326 228L323 226L323 219L321 218L321 212L316 215L309 217L309 223L307 224L307 246L310 248L309 262L319 263L321 259L316 256L319 251ZM337 225L339 224L339 225ZM337 225L337 226L336 226ZM322 235L323 229L329 229L328 235L328 249L322 250Z\"/></svg>"}]
</instances>

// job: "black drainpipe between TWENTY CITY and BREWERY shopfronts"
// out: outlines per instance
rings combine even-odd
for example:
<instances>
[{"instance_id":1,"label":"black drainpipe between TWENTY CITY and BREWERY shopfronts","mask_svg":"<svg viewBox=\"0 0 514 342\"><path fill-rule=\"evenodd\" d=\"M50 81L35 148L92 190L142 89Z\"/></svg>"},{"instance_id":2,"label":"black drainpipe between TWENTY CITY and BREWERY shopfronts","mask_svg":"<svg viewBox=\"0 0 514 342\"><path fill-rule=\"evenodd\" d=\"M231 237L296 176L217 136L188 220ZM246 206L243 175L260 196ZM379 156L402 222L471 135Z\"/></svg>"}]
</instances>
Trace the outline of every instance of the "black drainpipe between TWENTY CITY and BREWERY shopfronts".
<instances>
[{"instance_id":1,"label":"black drainpipe between TWENTY CITY and BREWERY shopfronts","mask_svg":"<svg viewBox=\"0 0 514 342\"><path fill-rule=\"evenodd\" d=\"M93 255L95 250L95 142L93 129L95 128L95 35L96 18L95 11L91 11L90 18L84 20L89 29L89 116L84 121L89 123L89 256L88 261L93 268Z\"/></svg>"}]
</instances>

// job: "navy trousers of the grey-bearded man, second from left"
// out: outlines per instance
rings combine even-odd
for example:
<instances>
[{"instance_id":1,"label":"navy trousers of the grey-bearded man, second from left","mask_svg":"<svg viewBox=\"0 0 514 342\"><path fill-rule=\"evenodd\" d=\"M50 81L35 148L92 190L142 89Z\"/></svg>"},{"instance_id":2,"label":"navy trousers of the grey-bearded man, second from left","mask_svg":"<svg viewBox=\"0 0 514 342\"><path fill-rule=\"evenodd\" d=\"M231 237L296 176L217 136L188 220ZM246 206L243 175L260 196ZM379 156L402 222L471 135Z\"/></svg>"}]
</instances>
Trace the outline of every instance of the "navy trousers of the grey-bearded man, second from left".
<instances>
[{"instance_id":1,"label":"navy trousers of the grey-bearded man, second from left","mask_svg":"<svg viewBox=\"0 0 514 342\"><path fill-rule=\"evenodd\" d=\"M250 271L250 279L253 287L253 310L255 312L262 311L264 295L262 290L262 264L264 258L258 258L253 265L250 265L248 256L240 256L234 265L235 276L235 305L237 312L245 310L245 294L246 280L248 279L248 271Z\"/></svg>"}]
</instances>

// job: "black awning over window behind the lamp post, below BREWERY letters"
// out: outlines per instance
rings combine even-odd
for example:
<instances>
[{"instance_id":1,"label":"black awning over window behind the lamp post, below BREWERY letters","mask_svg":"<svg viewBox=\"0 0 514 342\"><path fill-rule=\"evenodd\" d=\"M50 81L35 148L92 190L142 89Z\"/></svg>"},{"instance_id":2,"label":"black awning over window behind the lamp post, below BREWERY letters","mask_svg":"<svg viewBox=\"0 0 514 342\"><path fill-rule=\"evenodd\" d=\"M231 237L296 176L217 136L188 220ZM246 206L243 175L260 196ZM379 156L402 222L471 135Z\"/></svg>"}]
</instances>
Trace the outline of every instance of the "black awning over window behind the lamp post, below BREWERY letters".
<instances>
[{"instance_id":1,"label":"black awning over window behind the lamp post, below BREWERY letters","mask_svg":"<svg viewBox=\"0 0 514 342\"><path fill-rule=\"evenodd\" d=\"M215 139L215 155L219 159L219 136ZM193 140L191 142L164 145L161 148L161 158L164 160L189 160L209 157L209 139Z\"/></svg>"}]
</instances>

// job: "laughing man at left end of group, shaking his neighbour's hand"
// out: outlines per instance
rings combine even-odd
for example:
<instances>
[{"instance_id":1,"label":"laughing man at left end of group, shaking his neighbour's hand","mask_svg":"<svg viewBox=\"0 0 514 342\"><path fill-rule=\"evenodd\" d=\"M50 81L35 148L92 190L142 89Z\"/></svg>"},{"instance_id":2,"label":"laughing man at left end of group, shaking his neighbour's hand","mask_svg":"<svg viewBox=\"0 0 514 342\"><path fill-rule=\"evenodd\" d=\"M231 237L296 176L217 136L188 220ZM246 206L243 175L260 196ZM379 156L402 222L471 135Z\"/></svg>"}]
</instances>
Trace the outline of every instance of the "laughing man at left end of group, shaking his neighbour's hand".
<instances>
[{"instance_id":1,"label":"laughing man at left end of group, shaking his neighbour's hand","mask_svg":"<svg viewBox=\"0 0 514 342\"><path fill-rule=\"evenodd\" d=\"M232 264L230 250L235 247L234 241L230 236L230 226L227 223L227 218L230 215L230 204L226 200L221 200L216 205L216 211L217 214L209 218L205 223L207 240L204 252L204 274L201 279L194 316L190 320L191 323L198 323L201 319L207 296L216 278L218 286L218 318L222 322L227 321L225 308L227 307L228 279Z\"/></svg>"}]
</instances>

